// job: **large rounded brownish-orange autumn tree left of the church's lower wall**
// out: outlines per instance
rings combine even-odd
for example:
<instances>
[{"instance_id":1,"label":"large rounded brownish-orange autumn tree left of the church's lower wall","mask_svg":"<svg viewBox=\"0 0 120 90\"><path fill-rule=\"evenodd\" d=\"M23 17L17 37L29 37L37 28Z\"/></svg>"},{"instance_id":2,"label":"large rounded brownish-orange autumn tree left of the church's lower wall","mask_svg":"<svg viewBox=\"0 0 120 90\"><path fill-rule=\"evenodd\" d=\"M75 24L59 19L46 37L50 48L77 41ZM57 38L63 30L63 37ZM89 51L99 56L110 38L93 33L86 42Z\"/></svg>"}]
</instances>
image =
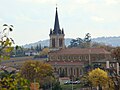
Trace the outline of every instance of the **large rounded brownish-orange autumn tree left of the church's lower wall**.
<instances>
[{"instance_id":1,"label":"large rounded brownish-orange autumn tree left of the church's lower wall","mask_svg":"<svg viewBox=\"0 0 120 90\"><path fill-rule=\"evenodd\" d=\"M38 82L42 87L53 77L53 69L50 64L39 61L27 61L21 68L22 77L30 82ZM49 79L48 79L49 78Z\"/></svg>"}]
</instances>

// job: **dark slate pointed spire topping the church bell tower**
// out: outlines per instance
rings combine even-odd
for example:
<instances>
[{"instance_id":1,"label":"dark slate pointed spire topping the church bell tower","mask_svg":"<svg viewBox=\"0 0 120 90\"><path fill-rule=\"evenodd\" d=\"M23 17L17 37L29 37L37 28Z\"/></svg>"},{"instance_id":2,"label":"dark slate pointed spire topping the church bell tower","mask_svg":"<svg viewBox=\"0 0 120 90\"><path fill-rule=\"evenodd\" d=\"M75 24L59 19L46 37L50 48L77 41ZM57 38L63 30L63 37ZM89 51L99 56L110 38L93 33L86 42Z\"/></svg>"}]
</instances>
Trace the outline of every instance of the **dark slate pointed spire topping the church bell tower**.
<instances>
[{"instance_id":1,"label":"dark slate pointed spire topping the church bell tower","mask_svg":"<svg viewBox=\"0 0 120 90\"><path fill-rule=\"evenodd\" d=\"M57 12L57 7L56 7L54 33L55 34L60 34L59 31L60 31L60 25L59 25L58 12Z\"/></svg>"}]
</instances>

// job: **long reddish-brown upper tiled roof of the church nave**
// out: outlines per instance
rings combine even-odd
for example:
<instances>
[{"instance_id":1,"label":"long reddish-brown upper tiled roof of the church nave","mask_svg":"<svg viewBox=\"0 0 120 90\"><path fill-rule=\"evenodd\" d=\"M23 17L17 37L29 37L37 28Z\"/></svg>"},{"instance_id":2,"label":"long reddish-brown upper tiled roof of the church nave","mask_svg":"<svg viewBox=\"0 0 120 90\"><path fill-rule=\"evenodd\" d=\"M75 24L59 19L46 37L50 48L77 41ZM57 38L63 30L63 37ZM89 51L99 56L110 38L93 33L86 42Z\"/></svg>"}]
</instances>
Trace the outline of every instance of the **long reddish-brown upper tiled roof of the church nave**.
<instances>
[{"instance_id":1,"label":"long reddish-brown upper tiled roof of the church nave","mask_svg":"<svg viewBox=\"0 0 120 90\"><path fill-rule=\"evenodd\" d=\"M50 52L49 54L110 54L103 48L67 48Z\"/></svg>"}]
</instances>

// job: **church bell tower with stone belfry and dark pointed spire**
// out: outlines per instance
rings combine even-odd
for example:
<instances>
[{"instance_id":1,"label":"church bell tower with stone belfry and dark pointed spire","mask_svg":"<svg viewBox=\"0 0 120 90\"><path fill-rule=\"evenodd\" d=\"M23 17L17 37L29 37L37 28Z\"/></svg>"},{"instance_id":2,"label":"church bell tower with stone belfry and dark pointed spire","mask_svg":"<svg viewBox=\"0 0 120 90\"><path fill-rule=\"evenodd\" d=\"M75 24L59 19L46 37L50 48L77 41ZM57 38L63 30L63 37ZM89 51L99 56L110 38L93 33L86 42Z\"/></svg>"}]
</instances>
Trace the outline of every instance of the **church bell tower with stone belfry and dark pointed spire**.
<instances>
[{"instance_id":1,"label":"church bell tower with stone belfry and dark pointed spire","mask_svg":"<svg viewBox=\"0 0 120 90\"><path fill-rule=\"evenodd\" d=\"M50 29L50 48L53 50L59 50L65 48L65 41L64 41L64 30L60 29L59 19L58 19L58 12L56 7L55 13L55 23L54 29Z\"/></svg>"}]
</instances>

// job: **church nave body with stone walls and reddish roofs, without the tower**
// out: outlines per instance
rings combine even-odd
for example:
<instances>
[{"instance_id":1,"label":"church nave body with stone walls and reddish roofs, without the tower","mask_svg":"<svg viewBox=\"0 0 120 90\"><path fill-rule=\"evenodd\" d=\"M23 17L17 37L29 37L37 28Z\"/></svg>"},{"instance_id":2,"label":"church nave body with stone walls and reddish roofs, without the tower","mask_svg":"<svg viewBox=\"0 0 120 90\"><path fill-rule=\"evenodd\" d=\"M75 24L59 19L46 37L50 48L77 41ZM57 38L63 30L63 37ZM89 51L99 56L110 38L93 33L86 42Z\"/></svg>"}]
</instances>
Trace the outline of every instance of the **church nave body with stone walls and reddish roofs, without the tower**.
<instances>
[{"instance_id":1,"label":"church nave body with stone walls and reddish roofs, without the tower","mask_svg":"<svg viewBox=\"0 0 120 90\"><path fill-rule=\"evenodd\" d=\"M86 65L110 57L110 53L101 48L67 48L50 52L48 63L60 76L64 74L64 76L80 77Z\"/></svg>"}]
</instances>

